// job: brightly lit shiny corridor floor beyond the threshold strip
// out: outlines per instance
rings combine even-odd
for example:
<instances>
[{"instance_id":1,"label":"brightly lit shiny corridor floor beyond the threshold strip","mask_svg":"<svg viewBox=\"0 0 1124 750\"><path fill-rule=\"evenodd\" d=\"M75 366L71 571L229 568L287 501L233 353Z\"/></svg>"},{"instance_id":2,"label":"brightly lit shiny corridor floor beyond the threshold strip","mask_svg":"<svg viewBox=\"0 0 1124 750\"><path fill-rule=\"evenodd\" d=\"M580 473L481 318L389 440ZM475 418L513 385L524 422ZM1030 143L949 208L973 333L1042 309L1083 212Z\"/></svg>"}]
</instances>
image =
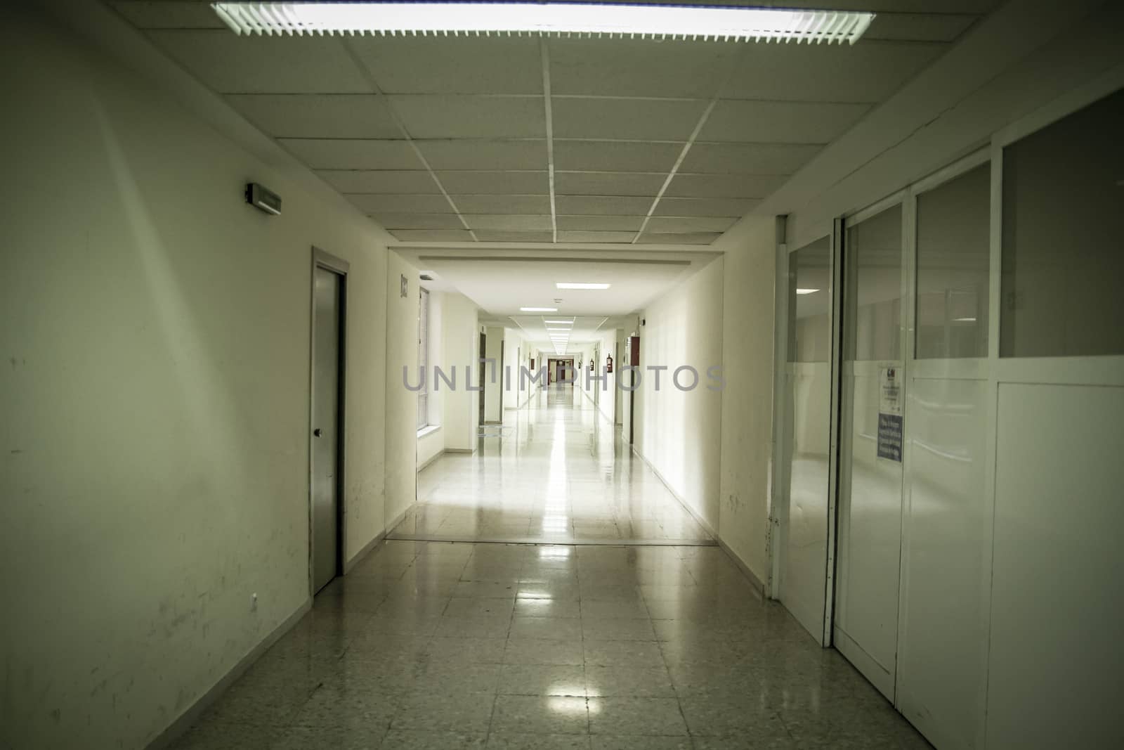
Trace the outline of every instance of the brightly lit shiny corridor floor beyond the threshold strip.
<instances>
[{"instance_id":1,"label":"brightly lit shiny corridor floor beyond the threshold strip","mask_svg":"<svg viewBox=\"0 0 1124 750\"><path fill-rule=\"evenodd\" d=\"M391 539L713 544L613 423L572 386L486 426L473 454L418 475L418 501Z\"/></svg>"}]
</instances>

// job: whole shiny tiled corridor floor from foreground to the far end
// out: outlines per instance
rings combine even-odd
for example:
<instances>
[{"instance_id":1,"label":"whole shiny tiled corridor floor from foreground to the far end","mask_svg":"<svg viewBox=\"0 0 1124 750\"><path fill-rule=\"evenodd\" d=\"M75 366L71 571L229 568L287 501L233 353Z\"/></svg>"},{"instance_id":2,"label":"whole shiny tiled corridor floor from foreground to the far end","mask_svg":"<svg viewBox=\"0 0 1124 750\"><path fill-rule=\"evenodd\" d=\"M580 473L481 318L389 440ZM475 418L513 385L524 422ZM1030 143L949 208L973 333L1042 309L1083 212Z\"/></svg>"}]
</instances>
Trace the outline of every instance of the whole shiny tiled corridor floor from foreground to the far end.
<instances>
[{"instance_id":1,"label":"whole shiny tiled corridor floor from foreground to the far end","mask_svg":"<svg viewBox=\"0 0 1124 750\"><path fill-rule=\"evenodd\" d=\"M543 408L532 434L461 476L504 498L487 506L496 513L523 513L522 494L547 477L528 526L565 515L577 536L578 518L663 528L671 506L587 416L564 400ZM455 473L443 469L429 497L454 497ZM486 517L481 531L506 523ZM597 541L388 541L329 584L176 747L928 747L837 652L761 600L722 549Z\"/></svg>"}]
</instances>

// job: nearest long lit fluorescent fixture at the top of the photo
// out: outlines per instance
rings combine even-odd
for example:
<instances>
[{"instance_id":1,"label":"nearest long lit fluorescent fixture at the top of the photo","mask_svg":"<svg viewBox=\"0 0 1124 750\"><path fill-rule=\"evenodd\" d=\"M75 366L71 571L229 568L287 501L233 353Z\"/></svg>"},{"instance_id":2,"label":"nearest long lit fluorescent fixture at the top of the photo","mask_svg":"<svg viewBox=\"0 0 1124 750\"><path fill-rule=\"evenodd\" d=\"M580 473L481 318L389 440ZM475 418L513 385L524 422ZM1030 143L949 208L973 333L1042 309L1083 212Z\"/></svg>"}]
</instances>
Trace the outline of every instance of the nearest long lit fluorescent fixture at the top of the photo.
<instances>
[{"instance_id":1,"label":"nearest long lit fluorescent fixture at the top of the photo","mask_svg":"<svg viewBox=\"0 0 1124 750\"><path fill-rule=\"evenodd\" d=\"M854 44L874 13L590 2L212 2L235 34L532 35Z\"/></svg>"}]
</instances>

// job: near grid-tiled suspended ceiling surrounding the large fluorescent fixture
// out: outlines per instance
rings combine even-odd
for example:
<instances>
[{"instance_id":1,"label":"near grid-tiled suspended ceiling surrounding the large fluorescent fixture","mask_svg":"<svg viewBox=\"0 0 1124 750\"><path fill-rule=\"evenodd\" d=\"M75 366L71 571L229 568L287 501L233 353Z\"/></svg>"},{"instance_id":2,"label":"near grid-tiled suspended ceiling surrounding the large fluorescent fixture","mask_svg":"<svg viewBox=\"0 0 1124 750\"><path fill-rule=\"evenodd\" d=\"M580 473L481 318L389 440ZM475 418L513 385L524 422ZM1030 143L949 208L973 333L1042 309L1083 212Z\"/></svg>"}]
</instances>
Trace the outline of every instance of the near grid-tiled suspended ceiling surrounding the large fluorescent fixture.
<instances>
[{"instance_id":1,"label":"near grid-tiled suspended ceiling surrounding the large fluorescent fixture","mask_svg":"<svg viewBox=\"0 0 1124 750\"><path fill-rule=\"evenodd\" d=\"M205 2L110 4L404 244L529 246L711 243L997 0L783 3L877 11L853 46L238 37Z\"/></svg>"}]
</instances>

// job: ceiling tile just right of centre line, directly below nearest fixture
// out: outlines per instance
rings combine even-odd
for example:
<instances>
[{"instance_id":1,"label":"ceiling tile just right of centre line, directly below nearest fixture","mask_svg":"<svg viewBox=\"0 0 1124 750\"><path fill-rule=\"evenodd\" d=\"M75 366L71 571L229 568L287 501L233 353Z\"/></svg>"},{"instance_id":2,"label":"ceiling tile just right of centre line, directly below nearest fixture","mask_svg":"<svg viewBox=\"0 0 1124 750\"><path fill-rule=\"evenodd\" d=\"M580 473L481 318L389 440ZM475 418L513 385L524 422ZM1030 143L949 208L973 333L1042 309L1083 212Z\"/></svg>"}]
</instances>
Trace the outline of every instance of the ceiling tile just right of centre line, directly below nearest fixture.
<instances>
[{"instance_id":1,"label":"ceiling tile just right of centre line, directly below nearest fixture","mask_svg":"<svg viewBox=\"0 0 1124 750\"><path fill-rule=\"evenodd\" d=\"M550 39L551 91L618 97L717 92L742 45L651 39Z\"/></svg>"}]
</instances>

